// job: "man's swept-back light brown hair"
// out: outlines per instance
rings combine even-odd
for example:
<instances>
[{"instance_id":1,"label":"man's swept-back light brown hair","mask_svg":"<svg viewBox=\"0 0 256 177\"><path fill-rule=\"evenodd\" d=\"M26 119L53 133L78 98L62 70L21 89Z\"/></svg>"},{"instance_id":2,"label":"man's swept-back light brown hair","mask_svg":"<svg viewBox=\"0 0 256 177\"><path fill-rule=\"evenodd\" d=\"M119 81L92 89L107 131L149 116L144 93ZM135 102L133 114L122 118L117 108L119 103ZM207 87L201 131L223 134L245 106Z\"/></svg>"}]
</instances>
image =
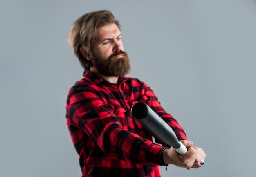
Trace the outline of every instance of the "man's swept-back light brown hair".
<instances>
[{"instance_id":1,"label":"man's swept-back light brown hair","mask_svg":"<svg viewBox=\"0 0 256 177\"><path fill-rule=\"evenodd\" d=\"M93 43L97 38L97 28L110 23L115 23L121 31L121 25L113 14L108 10L101 10L84 14L70 27L67 42L83 68L90 69L92 63L81 54L80 48L84 47L87 51L92 51Z\"/></svg>"}]
</instances>

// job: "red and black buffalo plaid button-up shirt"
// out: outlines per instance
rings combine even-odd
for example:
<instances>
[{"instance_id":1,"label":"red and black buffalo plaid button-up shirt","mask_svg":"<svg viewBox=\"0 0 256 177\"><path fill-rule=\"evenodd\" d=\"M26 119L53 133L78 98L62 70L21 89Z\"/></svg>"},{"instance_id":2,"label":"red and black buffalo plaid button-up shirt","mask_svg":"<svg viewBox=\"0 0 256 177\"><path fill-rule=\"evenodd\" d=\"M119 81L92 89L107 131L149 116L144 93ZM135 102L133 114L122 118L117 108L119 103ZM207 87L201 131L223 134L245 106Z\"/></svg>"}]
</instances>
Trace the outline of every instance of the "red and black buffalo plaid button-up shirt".
<instances>
[{"instance_id":1,"label":"red and black buffalo plaid button-up shirt","mask_svg":"<svg viewBox=\"0 0 256 177\"><path fill-rule=\"evenodd\" d=\"M131 116L130 108L139 101L165 119L179 140L187 139L150 87L138 79L121 77L113 84L87 70L70 88L66 120L83 177L160 177L158 154L163 146L152 143L152 135Z\"/></svg>"}]
</instances>

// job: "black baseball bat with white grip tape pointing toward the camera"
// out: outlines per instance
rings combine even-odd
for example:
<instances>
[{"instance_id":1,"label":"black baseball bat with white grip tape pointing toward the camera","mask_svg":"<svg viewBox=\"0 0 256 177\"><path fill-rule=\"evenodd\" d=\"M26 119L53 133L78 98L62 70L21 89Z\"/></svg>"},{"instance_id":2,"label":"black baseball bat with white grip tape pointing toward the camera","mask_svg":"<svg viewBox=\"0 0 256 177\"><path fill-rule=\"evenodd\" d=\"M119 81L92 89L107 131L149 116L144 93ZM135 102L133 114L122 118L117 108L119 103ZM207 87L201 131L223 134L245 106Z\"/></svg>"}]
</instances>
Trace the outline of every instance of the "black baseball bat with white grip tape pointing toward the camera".
<instances>
[{"instance_id":1,"label":"black baseball bat with white grip tape pointing toward the camera","mask_svg":"<svg viewBox=\"0 0 256 177\"><path fill-rule=\"evenodd\" d=\"M187 152L178 139L173 129L146 103L135 103L131 108L132 117L143 125L153 136L163 143L172 146L180 155Z\"/></svg>"}]
</instances>

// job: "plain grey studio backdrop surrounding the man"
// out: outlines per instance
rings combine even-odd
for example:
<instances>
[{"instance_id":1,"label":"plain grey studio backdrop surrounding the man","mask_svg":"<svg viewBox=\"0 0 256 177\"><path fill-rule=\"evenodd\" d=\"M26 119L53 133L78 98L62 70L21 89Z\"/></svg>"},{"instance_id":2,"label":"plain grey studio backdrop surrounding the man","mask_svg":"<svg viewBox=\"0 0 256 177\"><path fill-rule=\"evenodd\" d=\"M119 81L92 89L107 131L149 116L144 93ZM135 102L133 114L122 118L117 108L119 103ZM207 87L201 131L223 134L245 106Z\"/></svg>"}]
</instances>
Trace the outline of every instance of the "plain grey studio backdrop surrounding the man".
<instances>
[{"instance_id":1,"label":"plain grey studio backdrop surrounding the man","mask_svg":"<svg viewBox=\"0 0 256 177\"><path fill-rule=\"evenodd\" d=\"M121 22L128 76L150 85L207 154L202 168L161 167L162 176L254 177L254 0L2 0L0 176L81 176L65 100L83 69L66 36L101 9Z\"/></svg>"}]
</instances>

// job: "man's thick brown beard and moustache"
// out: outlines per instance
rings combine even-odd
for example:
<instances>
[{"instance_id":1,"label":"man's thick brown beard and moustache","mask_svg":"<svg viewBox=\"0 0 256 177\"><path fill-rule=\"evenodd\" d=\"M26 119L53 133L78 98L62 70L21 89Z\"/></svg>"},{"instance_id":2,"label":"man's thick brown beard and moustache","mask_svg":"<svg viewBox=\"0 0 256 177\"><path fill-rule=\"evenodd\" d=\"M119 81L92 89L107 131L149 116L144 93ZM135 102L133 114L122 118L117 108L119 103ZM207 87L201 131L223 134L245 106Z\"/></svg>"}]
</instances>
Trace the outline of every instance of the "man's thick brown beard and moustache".
<instances>
[{"instance_id":1,"label":"man's thick brown beard and moustache","mask_svg":"<svg viewBox=\"0 0 256 177\"><path fill-rule=\"evenodd\" d=\"M117 55L123 55L121 58L115 58ZM92 63L97 68L99 74L104 76L122 77L130 71L130 60L128 54L124 51L117 51L107 59L97 54L92 54Z\"/></svg>"}]
</instances>

